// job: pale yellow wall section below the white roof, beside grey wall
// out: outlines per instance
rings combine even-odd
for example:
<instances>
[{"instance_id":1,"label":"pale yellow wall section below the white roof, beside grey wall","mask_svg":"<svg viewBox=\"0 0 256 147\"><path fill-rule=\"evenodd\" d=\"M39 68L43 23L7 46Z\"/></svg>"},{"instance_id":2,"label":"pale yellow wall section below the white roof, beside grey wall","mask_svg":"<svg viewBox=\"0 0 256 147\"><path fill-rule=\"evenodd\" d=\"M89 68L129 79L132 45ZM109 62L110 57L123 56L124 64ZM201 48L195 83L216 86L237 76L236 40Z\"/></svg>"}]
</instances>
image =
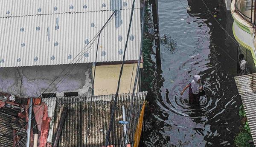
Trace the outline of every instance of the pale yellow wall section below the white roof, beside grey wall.
<instances>
[{"instance_id":1,"label":"pale yellow wall section below the white roof, beside grey wall","mask_svg":"<svg viewBox=\"0 0 256 147\"><path fill-rule=\"evenodd\" d=\"M142 68L142 64L140 65ZM134 68L134 71L133 71ZM122 72L119 93L132 93L137 64L125 64ZM94 95L108 95L115 94L117 89L117 82L119 78L121 65L101 65L96 66L95 81L94 81ZM94 67L93 67L94 74ZM131 76L133 78L131 80ZM132 84L131 84L132 83ZM131 84L131 90L130 90ZM138 87L138 86L137 86Z\"/></svg>"}]
</instances>

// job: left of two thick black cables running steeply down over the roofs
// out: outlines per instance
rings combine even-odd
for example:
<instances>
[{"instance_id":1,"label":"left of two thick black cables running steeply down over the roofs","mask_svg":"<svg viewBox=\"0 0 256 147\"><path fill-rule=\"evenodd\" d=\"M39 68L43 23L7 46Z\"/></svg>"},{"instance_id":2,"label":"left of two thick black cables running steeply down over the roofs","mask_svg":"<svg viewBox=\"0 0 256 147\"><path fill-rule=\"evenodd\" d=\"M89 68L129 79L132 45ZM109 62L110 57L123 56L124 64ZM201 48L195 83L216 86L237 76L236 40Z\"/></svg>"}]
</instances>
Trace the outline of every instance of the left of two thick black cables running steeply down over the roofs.
<instances>
[{"instance_id":1,"label":"left of two thick black cables running steeply down over the roofs","mask_svg":"<svg viewBox=\"0 0 256 147\"><path fill-rule=\"evenodd\" d=\"M109 122L105 147L108 146L109 137L110 137L110 133L111 133L111 128L112 128L112 125L113 125L113 118L114 118L114 112L115 112L115 108L116 108L117 96L118 96L118 93L119 93L119 86L120 86L120 81L121 81L121 76L122 76L122 70L123 70L124 62L125 62L125 52L126 52L127 45L128 45L128 39L129 39L130 30L131 30L131 22L132 22L132 17L133 17L133 13L134 13L134 4L135 4L135 0L133 0L133 3L132 3L130 22L129 22L128 33L127 33L126 42L125 42L124 55L123 55L123 59L122 59L122 66L121 66L121 70L120 70L120 74L119 74L119 79L118 79L114 104L113 104L113 107L112 107L112 110L111 110L111 119L110 119L110 122Z\"/></svg>"}]
</instances>

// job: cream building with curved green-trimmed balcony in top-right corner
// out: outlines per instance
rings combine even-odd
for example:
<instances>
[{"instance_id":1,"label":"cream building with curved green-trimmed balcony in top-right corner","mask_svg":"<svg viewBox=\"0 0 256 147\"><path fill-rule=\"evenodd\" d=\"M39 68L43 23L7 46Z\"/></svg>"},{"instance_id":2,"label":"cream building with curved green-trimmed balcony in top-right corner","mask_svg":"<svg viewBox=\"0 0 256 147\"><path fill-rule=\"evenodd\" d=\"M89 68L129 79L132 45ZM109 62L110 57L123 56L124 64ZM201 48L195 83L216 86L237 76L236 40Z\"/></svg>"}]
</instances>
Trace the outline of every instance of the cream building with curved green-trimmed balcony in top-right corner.
<instances>
[{"instance_id":1,"label":"cream building with curved green-trimmed balcony in top-right corner","mask_svg":"<svg viewBox=\"0 0 256 147\"><path fill-rule=\"evenodd\" d=\"M234 19L233 34L251 72L256 71L254 5L255 0L233 0L231 3L231 14Z\"/></svg>"}]
</instances>

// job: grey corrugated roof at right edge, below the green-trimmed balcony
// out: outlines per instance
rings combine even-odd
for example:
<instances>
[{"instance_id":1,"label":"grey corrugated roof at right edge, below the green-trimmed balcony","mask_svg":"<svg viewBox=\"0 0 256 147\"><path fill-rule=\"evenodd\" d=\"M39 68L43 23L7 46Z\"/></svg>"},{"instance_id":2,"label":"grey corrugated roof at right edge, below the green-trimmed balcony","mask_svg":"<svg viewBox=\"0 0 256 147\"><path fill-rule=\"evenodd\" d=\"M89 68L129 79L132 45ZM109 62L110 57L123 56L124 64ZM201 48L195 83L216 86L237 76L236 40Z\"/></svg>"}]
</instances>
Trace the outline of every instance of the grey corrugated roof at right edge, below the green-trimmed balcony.
<instances>
[{"instance_id":1,"label":"grey corrugated roof at right edge, below the green-trimmed balcony","mask_svg":"<svg viewBox=\"0 0 256 147\"><path fill-rule=\"evenodd\" d=\"M235 77L235 81L243 102L253 142L256 146L256 73L237 76Z\"/></svg>"}]
</instances>

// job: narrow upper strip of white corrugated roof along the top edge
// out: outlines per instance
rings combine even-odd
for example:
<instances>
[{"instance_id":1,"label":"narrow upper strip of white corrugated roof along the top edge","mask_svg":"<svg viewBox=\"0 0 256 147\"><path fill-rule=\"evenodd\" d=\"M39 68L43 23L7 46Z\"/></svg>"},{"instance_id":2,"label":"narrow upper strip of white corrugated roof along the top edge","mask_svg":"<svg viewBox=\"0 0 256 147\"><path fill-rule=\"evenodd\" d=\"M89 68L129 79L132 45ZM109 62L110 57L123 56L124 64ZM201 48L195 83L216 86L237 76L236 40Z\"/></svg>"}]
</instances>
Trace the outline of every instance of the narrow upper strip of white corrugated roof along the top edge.
<instances>
[{"instance_id":1,"label":"narrow upper strip of white corrugated roof along the top edge","mask_svg":"<svg viewBox=\"0 0 256 147\"><path fill-rule=\"evenodd\" d=\"M132 0L1 0L0 17L131 9ZM140 8L140 0L135 7Z\"/></svg>"}]
</instances>

